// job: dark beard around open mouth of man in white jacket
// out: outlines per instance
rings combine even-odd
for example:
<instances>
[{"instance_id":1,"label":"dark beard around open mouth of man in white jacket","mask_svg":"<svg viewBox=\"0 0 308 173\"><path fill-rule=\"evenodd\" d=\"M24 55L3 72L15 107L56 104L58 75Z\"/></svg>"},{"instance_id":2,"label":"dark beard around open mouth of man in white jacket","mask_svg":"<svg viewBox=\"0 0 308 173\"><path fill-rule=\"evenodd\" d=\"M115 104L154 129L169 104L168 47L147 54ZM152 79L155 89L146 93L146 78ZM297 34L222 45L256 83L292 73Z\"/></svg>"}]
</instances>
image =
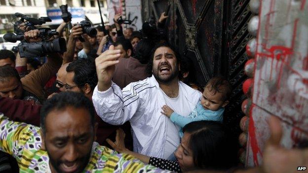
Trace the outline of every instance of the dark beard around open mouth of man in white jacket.
<instances>
[{"instance_id":1,"label":"dark beard around open mouth of man in white jacket","mask_svg":"<svg viewBox=\"0 0 308 173\"><path fill-rule=\"evenodd\" d=\"M158 72L161 66L169 66L169 69L172 70L171 74L168 77L161 77ZM177 78L179 75L179 68L178 68L178 64L175 66L174 69L171 69L171 66L169 63L161 63L157 69L153 69L153 75L155 77L155 79L158 81L158 83L170 83L173 79Z\"/></svg>"}]
</instances>

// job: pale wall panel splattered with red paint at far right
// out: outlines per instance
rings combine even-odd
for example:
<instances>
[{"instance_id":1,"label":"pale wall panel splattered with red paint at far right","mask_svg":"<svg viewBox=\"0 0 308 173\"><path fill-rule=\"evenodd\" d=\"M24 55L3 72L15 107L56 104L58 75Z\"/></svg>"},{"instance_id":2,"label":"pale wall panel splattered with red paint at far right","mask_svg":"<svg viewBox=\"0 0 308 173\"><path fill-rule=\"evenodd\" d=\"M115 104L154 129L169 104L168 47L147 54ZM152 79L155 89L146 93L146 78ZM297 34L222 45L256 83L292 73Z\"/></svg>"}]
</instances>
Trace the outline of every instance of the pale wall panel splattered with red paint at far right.
<instances>
[{"instance_id":1,"label":"pale wall panel splattered with red paint at far right","mask_svg":"<svg viewBox=\"0 0 308 173\"><path fill-rule=\"evenodd\" d=\"M262 162L267 120L282 120L282 145L308 140L308 2L262 0L247 166Z\"/></svg>"}]
</instances>

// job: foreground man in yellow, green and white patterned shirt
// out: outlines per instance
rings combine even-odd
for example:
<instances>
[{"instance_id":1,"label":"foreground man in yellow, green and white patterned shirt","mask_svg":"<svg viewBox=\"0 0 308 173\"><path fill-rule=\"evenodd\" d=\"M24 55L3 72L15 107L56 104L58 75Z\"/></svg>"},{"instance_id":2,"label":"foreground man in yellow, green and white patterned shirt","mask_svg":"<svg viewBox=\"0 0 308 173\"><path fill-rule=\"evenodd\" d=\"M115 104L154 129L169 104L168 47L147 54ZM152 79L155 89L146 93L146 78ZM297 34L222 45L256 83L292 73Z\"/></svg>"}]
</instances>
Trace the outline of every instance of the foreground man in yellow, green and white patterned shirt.
<instances>
[{"instance_id":1,"label":"foreground man in yellow, green and white patterned shirt","mask_svg":"<svg viewBox=\"0 0 308 173\"><path fill-rule=\"evenodd\" d=\"M82 94L55 95L40 115L41 128L0 113L0 150L16 158L20 173L167 172L94 142L94 108Z\"/></svg>"}]
</instances>

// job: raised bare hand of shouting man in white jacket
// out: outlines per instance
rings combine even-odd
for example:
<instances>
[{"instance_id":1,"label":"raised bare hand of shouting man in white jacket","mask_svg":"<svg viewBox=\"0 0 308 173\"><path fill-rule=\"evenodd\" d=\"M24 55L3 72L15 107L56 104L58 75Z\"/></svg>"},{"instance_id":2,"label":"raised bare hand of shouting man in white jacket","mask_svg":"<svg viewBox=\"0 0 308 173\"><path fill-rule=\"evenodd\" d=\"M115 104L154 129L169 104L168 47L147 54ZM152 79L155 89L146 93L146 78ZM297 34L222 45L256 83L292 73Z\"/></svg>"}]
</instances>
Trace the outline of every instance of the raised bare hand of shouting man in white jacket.
<instances>
[{"instance_id":1,"label":"raised bare hand of shouting man in white jacket","mask_svg":"<svg viewBox=\"0 0 308 173\"><path fill-rule=\"evenodd\" d=\"M115 46L111 45L109 50L95 59L99 91L106 91L111 87L111 79L115 72L115 65L119 63L120 53L121 50L115 50Z\"/></svg>"}]
</instances>

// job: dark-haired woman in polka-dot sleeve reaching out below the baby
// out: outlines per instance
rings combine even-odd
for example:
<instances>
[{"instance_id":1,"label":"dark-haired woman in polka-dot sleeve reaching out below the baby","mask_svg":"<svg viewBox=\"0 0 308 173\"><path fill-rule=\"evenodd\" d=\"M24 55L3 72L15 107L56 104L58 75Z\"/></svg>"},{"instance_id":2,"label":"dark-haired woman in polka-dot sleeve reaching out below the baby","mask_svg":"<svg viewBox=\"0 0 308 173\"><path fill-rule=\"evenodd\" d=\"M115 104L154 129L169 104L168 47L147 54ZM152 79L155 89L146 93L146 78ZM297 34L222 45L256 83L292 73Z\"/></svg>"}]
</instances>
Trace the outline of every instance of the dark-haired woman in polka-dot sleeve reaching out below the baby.
<instances>
[{"instance_id":1,"label":"dark-haired woman in polka-dot sleeve reaching out below the baby","mask_svg":"<svg viewBox=\"0 0 308 173\"><path fill-rule=\"evenodd\" d=\"M117 130L116 142L107 142L117 151L135 156L142 162L175 172L195 169L227 170L237 163L236 143L225 126L216 121L195 121L183 128L184 136L174 155L177 161L149 157L125 148L122 130Z\"/></svg>"}]
</instances>

